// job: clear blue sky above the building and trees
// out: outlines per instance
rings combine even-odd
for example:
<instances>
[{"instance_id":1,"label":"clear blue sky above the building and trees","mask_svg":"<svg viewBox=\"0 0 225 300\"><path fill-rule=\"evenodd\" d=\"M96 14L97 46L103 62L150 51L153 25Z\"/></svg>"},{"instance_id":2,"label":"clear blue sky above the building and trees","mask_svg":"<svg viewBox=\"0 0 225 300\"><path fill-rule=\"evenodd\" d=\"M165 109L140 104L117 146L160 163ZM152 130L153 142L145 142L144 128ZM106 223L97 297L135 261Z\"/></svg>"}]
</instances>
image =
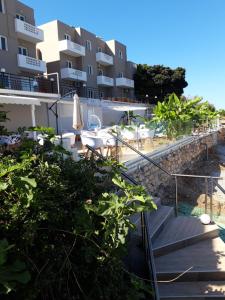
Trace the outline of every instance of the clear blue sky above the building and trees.
<instances>
[{"instance_id":1,"label":"clear blue sky above the building and trees","mask_svg":"<svg viewBox=\"0 0 225 300\"><path fill-rule=\"evenodd\" d=\"M186 69L184 94L225 108L225 0L21 0L37 25L59 19L127 45L135 63Z\"/></svg>"}]
</instances>

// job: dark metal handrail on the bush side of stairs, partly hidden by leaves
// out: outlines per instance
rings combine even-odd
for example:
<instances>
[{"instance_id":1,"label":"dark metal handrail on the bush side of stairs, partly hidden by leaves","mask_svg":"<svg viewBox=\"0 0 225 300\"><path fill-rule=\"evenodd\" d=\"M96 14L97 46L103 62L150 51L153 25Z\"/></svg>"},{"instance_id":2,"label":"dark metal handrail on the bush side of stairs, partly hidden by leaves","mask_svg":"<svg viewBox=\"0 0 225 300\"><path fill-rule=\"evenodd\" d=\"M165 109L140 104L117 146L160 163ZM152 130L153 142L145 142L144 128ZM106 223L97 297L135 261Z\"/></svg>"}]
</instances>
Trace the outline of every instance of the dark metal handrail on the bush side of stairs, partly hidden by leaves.
<instances>
[{"instance_id":1,"label":"dark metal handrail on the bush side of stairs, partly hidden by leaves","mask_svg":"<svg viewBox=\"0 0 225 300\"><path fill-rule=\"evenodd\" d=\"M89 145L85 145L87 147L88 150L90 150L92 153L94 153L96 156L98 156L100 159L102 159L103 161L107 160L101 153L99 153L98 151L96 151L93 147L89 146ZM130 175L128 175L126 172L120 170L121 175L128 179L132 184L134 185L139 185L139 183L132 178ZM159 299L159 294L158 294L158 286L157 286L157 278L156 278L156 269L155 269L155 264L154 264L154 257L153 257L153 250L152 250L152 243L151 243L151 239L150 234L148 232L148 226L147 226L147 215L146 212L141 212L141 233L142 233L142 243L145 249L145 255L146 255L146 259L148 262L148 269L149 269L149 273L151 274L151 285L154 291L153 297L155 300Z\"/></svg>"}]
</instances>

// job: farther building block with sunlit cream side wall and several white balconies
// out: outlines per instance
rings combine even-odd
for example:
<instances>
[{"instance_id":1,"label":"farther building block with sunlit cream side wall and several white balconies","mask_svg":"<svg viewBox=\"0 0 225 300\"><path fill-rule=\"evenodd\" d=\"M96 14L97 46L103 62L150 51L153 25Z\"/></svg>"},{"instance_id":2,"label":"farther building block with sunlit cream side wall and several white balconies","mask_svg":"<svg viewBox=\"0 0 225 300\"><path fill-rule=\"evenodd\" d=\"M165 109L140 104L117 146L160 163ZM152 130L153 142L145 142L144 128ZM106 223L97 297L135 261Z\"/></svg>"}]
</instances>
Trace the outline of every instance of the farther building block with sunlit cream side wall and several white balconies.
<instances>
[{"instance_id":1,"label":"farther building block with sunlit cream side wall and several white balconies","mask_svg":"<svg viewBox=\"0 0 225 300\"><path fill-rule=\"evenodd\" d=\"M125 45L58 20L39 28L45 40L38 48L48 73L59 73L61 94L76 88L87 98L134 98L136 65L127 61Z\"/></svg>"}]
</instances>

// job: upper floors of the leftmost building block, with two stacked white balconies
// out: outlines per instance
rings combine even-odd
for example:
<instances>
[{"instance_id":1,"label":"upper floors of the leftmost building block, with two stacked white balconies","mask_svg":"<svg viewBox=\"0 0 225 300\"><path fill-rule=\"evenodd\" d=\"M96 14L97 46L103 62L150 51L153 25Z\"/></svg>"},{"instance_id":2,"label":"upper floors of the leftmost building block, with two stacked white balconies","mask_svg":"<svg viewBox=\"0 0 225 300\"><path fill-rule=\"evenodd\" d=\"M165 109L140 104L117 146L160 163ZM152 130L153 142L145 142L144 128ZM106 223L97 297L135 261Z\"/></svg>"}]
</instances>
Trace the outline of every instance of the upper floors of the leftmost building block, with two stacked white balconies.
<instances>
[{"instance_id":1,"label":"upper floors of the leftmost building block, with two stacked white balconies","mask_svg":"<svg viewBox=\"0 0 225 300\"><path fill-rule=\"evenodd\" d=\"M0 0L1 71L24 76L46 72L46 63L36 53L36 44L43 40L32 8L17 0Z\"/></svg>"}]
</instances>

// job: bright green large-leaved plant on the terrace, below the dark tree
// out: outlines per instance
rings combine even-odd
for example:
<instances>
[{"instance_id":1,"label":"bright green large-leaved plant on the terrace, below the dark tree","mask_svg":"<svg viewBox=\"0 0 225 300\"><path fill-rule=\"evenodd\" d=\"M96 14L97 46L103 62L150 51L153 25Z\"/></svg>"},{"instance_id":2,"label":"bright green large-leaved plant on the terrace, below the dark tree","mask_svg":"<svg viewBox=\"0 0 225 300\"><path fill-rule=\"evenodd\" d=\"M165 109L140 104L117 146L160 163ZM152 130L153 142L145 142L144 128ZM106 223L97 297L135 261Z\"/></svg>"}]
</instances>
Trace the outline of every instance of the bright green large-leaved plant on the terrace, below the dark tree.
<instances>
[{"instance_id":1,"label":"bright green large-leaved plant on the terrace, below the dark tree","mask_svg":"<svg viewBox=\"0 0 225 300\"><path fill-rule=\"evenodd\" d=\"M194 127L213 120L217 112L212 111L208 102L197 97L183 101L171 94L168 101L158 102L154 109L155 122L163 122L168 137L190 134Z\"/></svg>"}]
</instances>

